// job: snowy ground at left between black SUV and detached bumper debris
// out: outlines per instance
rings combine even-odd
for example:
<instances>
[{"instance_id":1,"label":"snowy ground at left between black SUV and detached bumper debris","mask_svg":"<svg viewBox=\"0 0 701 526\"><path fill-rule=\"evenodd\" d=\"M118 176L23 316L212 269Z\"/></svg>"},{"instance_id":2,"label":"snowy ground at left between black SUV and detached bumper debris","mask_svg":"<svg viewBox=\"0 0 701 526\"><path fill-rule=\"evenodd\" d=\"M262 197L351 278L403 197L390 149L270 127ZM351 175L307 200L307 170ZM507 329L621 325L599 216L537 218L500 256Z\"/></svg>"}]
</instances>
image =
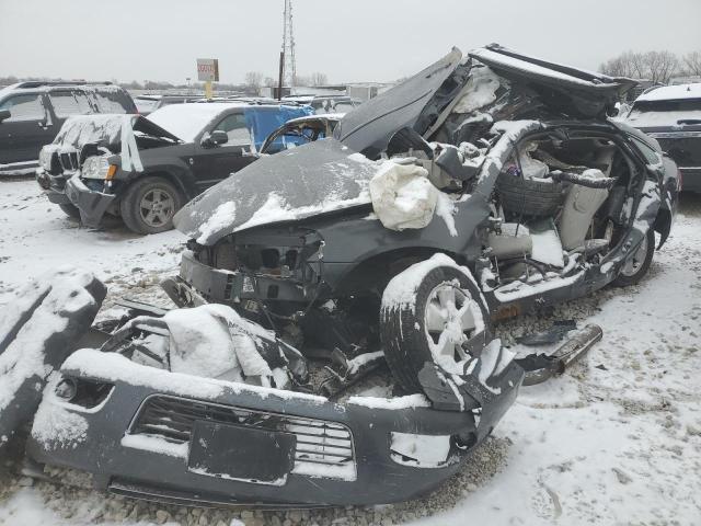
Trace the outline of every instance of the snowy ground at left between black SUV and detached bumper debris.
<instances>
[{"instance_id":1,"label":"snowy ground at left between black SUV and detached bumper debris","mask_svg":"<svg viewBox=\"0 0 701 526\"><path fill-rule=\"evenodd\" d=\"M175 230L138 236L120 225L81 228L36 182L0 179L0 308L28 279L66 264L93 271L111 293L139 297L158 273L177 268L185 241Z\"/></svg>"}]
</instances>

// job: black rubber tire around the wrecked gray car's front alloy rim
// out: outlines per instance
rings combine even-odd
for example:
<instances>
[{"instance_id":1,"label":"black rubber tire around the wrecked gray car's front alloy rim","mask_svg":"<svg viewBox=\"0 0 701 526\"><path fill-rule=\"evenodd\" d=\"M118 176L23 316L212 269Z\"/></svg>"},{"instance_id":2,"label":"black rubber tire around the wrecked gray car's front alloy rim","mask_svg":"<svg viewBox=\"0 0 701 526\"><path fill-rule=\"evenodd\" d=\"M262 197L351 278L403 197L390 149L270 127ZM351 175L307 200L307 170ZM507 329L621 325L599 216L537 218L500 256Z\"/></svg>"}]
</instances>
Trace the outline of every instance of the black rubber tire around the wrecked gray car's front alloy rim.
<instances>
[{"instance_id":1,"label":"black rubber tire around the wrecked gray car's front alloy rim","mask_svg":"<svg viewBox=\"0 0 701 526\"><path fill-rule=\"evenodd\" d=\"M426 305L432 293L439 285L455 279L458 279L460 288L468 291L479 305L484 323L484 341L479 339L480 346L484 346L492 340L489 309L472 279L451 266L438 266L432 270L416 289L415 306L383 306L380 311L380 339L384 348L384 358L394 379L407 392L421 391L418 373L426 362L436 363L428 343L432 336L426 330Z\"/></svg>"}]
</instances>

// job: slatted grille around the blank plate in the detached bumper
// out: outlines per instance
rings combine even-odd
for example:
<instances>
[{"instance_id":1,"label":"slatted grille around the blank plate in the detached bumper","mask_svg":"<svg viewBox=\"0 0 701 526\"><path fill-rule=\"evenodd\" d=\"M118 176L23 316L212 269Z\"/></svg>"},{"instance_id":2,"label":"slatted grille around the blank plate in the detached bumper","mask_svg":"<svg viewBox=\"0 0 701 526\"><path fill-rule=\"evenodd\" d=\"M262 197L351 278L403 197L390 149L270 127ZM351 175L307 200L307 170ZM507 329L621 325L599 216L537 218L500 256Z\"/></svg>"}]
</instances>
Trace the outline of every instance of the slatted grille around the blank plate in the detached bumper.
<instances>
[{"instance_id":1,"label":"slatted grille around the blank plate in the detached bumper","mask_svg":"<svg viewBox=\"0 0 701 526\"><path fill-rule=\"evenodd\" d=\"M157 395L141 405L129 433L183 444L189 442L196 421L291 433L297 437L292 473L355 480L350 430L336 422Z\"/></svg>"}]
</instances>

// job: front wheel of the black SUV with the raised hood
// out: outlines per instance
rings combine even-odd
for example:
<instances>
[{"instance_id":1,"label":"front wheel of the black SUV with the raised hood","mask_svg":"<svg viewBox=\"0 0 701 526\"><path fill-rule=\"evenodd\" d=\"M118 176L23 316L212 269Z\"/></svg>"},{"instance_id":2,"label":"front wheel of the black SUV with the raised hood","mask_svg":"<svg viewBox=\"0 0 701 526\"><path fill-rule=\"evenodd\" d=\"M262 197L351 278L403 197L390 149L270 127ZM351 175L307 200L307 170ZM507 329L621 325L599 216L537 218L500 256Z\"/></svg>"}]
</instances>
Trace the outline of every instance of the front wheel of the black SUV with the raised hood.
<instances>
[{"instance_id":1,"label":"front wheel of the black SUV with the raised hood","mask_svg":"<svg viewBox=\"0 0 701 526\"><path fill-rule=\"evenodd\" d=\"M164 206L164 211L159 211L158 217L153 216L148 220L148 210L141 205L148 196L165 195L169 205ZM173 216L184 204L182 193L173 183L164 178L151 176L135 181L127 188L119 203L119 213L124 224L129 230L137 233L159 233L173 228Z\"/></svg>"}]
</instances>

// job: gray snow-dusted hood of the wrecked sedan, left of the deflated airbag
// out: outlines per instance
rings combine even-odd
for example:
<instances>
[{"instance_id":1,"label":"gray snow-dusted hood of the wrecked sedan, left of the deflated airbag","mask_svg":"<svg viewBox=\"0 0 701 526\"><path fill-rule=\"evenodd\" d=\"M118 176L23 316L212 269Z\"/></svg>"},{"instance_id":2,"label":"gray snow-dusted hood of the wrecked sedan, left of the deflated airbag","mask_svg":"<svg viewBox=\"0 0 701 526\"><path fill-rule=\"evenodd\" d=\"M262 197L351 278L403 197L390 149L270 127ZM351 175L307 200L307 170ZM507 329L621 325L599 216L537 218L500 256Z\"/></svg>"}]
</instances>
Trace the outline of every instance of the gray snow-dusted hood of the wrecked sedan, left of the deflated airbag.
<instances>
[{"instance_id":1,"label":"gray snow-dusted hood of the wrecked sedan, left of the deflated airbag","mask_svg":"<svg viewBox=\"0 0 701 526\"><path fill-rule=\"evenodd\" d=\"M186 204L173 224L210 245L260 225L368 205L380 167L335 139L318 140L249 164Z\"/></svg>"}]
</instances>

